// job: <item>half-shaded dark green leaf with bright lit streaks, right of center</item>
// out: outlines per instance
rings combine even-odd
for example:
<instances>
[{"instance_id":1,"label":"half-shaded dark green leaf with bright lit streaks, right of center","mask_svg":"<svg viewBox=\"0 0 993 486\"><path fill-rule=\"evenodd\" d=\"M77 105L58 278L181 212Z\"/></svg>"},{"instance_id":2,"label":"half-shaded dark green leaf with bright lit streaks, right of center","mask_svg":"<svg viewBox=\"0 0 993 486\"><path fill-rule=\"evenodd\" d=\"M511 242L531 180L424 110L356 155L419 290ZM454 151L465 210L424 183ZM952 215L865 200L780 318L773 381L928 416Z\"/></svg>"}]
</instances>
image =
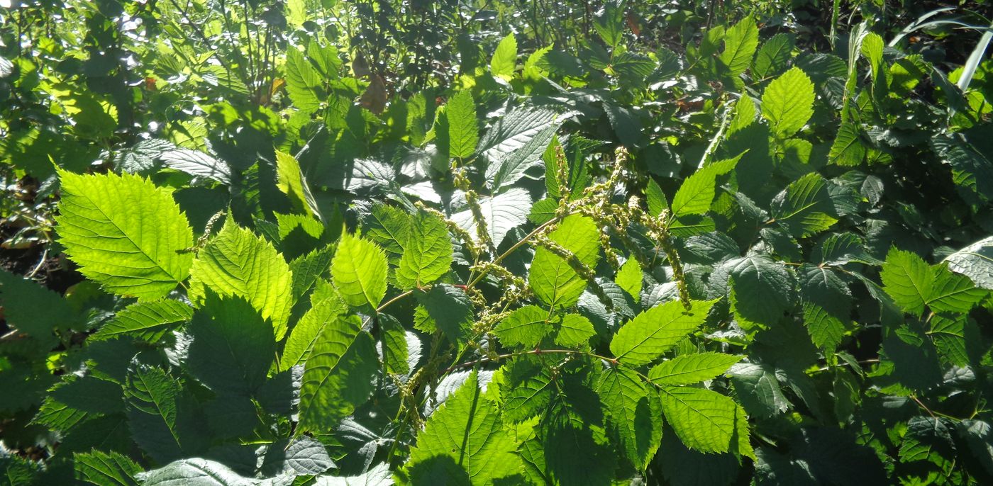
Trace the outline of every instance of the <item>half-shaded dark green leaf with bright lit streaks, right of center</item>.
<instances>
[{"instance_id":1,"label":"half-shaded dark green leaf with bright lit streaks, right of center","mask_svg":"<svg viewBox=\"0 0 993 486\"><path fill-rule=\"evenodd\" d=\"M797 238L830 228L837 219L827 182L810 173L791 182L774 199L773 218Z\"/></svg>"}]
</instances>

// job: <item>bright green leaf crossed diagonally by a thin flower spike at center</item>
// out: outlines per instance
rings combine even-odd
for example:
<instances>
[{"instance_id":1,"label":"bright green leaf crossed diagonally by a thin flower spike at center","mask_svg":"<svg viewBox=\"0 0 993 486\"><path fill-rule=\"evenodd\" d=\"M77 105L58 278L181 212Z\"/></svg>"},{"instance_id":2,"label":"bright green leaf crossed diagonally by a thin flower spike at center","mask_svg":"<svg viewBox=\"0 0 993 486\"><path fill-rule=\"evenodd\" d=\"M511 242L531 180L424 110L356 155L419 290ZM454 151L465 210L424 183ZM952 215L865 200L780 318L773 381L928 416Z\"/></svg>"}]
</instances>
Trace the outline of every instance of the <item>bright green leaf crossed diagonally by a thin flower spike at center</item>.
<instances>
[{"instance_id":1,"label":"bright green leaf crossed diagonally by a thin flower spike at center","mask_svg":"<svg viewBox=\"0 0 993 486\"><path fill-rule=\"evenodd\" d=\"M567 216L548 238L571 251L587 267L595 267L600 259L600 230L587 216ZM586 289L586 281L566 260L543 247L534 252L527 277L534 295L552 308L576 304Z\"/></svg>"}]
</instances>

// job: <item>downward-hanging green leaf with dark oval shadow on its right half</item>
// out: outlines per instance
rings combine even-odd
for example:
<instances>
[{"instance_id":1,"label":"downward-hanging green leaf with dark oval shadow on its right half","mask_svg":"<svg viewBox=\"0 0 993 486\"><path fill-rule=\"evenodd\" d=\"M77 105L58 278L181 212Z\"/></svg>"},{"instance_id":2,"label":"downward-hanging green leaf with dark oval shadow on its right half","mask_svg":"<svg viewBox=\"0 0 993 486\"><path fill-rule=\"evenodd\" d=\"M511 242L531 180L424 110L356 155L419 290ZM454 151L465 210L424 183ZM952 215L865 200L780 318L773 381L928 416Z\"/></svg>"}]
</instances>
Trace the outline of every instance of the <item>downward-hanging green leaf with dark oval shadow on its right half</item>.
<instances>
[{"instance_id":1,"label":"downward-hanging green leaf with dark oval shadow on its right half","mask_svg":"<svg viewBox=\"0 0 993 486\"><path fill-rule=\"evenodd\" d=\"M662 441L661 406L634 371L610 367L597 386L614 433L638 470L644 470Z\"/></svg>"}]
</instances>

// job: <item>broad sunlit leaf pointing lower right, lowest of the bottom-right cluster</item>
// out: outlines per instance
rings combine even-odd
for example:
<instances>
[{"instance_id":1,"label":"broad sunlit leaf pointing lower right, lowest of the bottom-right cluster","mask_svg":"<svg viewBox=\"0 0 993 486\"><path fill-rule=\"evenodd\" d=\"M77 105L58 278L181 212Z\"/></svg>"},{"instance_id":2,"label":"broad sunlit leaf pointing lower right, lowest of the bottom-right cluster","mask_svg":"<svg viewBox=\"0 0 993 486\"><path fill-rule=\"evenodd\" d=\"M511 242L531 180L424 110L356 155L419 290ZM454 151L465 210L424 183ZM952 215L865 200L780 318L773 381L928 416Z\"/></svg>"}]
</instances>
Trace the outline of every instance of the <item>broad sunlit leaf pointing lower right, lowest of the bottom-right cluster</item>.
<instances>
[{"instance_id":1,"label":"broad sunlit leaf pointing lower right, lowest of the bottom-right cluster","mask_svg":"<svg viewBox=\"0 0 993 486\"><path fill-rule=\"evenodd\" d=\"M662 412L676 435L690 449L727 452L735 434L734 401L701 388L662 387Z\"/></svg>"}]
</instances>

